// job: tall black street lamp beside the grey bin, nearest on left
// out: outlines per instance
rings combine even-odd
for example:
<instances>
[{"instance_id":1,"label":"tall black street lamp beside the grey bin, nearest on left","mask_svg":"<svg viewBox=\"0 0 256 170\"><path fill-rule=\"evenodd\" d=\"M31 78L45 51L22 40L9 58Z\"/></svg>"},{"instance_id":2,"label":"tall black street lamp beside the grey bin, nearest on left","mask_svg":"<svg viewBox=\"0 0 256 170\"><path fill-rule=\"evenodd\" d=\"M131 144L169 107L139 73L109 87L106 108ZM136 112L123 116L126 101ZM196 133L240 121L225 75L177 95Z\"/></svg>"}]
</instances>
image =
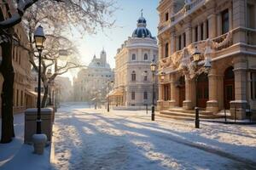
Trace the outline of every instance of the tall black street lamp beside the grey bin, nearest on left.
<instances>
[{"instance_id":1,"label":"tall black street lamp beside the grey bin, nearest on left","mask_svg":"<svg viewBox=\"0 0 256 170\"><path fill-rule=\"evenodd\" d=\"M37 134L42 133L41 129L41 54L44 49L44 42L46 37L44 36L44 28L38 26L34 32L34 40L36 48L38 49L38 115L37 115Z\"/></svg>"}]
</instances>

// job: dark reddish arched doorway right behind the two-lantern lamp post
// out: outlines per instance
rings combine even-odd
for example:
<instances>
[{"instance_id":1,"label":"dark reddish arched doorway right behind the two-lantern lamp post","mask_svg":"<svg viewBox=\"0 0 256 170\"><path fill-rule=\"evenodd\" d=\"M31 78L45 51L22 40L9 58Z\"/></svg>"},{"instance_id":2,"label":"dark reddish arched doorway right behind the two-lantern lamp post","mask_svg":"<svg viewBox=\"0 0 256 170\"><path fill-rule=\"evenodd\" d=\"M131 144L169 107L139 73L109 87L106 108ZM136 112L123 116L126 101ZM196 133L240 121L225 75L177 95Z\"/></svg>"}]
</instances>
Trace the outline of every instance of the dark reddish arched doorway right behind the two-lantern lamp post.
<instances>
[{"instance_id":1,"label":"dark reddish arched doorway right behind the two-lantern lamp post","mask_svg":"<svg viewBox=\"0 0 256 170\"><path fill-rule=\"evenodd\" d=\"M209 100L209 82L207 74L202 73L197 78L196 94L197 106L206 108L207 101Z\"/></svg>"}]
</instances>

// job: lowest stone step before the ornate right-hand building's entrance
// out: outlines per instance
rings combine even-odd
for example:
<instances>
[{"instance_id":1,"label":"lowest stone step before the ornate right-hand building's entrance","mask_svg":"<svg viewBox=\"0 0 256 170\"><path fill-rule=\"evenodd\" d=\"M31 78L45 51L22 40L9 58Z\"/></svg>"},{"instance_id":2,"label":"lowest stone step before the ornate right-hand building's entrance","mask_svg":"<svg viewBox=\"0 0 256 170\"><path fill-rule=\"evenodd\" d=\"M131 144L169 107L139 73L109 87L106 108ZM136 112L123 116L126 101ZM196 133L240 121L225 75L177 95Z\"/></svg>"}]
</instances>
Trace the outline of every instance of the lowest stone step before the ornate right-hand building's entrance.
<instances>
[{"instance_id":1,"label":"lowest stone step before the ornate right-hand building's entrance","mask_svg":"<svg viewBox=\"0 0 256 170\"><path fill-rule=\"evenodd\" d=\"M160 111L160 115L167 115L167 116L181 116L181 117L190 117L195 119L195 113L185 113L185 112L175 112L175 111ZM213 114L200 114L200 118L202 119L218 119L223 118L224 116L218 116Z\"/></svg>"}]
</instances>

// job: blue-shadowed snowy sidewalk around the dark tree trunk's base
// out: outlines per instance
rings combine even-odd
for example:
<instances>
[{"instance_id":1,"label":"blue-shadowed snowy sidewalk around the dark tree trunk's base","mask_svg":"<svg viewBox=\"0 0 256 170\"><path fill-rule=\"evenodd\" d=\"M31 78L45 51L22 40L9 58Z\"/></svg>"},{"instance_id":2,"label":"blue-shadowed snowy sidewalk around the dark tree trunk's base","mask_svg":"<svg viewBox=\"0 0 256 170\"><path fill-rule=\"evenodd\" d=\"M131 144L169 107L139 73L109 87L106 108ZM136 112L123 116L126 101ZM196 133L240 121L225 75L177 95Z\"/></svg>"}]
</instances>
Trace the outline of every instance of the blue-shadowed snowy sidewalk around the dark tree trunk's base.
<instances>
[{"instance_id":1,"label":"blue-shadowed snowy sidewalk around the dark tree trunk's base","mask_svg":"<svg viewBox=\"0 0 256 170\"><path fill-rule=\"evenodd\" d=\"M46 147L43 156L33 154L32 145L23 144L24 113L15 115L15 139L9 144L0 144L1 170L41 170L50 169L50 146ZM2 119L0 119L1 136Z\"/></svg>"}]
</instances>

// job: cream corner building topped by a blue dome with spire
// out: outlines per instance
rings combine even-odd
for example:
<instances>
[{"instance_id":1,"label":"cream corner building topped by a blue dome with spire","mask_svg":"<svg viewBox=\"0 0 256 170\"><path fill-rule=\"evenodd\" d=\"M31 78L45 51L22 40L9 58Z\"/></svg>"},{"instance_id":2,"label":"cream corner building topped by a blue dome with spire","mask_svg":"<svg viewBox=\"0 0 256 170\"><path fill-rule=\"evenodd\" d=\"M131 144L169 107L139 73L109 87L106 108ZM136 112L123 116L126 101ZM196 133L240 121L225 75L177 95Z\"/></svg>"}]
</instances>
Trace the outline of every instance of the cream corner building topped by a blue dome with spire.
<instances>
[{"instance_id":1,"label":"cream corner building topped by a blue dome with spire","mask_svg":"<svg viewBox=\"0 0 256 170\"><path fill-rule=\"evenodd\" d=\"M147 21L142 14L137 20L137 29L122 44L115 56L114 90L109 94L114 105L130 108L152 105L150 64L157 59L157 41L147 29Z\"/></svg>"}]
</instances>

